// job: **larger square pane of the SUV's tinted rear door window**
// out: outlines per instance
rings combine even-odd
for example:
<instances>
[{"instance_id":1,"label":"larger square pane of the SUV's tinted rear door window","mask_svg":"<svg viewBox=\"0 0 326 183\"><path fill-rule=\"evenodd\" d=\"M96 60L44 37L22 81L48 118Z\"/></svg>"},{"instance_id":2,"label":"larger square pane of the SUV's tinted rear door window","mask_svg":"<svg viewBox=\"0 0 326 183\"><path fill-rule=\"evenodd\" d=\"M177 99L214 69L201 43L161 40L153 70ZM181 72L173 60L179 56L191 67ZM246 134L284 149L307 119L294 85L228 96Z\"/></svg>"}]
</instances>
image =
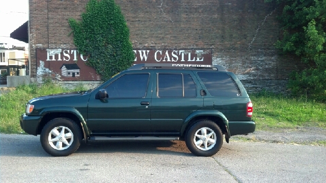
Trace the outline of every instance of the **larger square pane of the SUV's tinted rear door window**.
<instances>
[{"instance_id":1,"label":"larger square pane of the SUV's tinted rear door window","mask_svg":"<svg viewBox=\"0 0 326 183\"><path fill-rule=\"evenodd\" d=\"M158 97L182 96L182 74L158 74Z\"/></svg>"}]
</instances>

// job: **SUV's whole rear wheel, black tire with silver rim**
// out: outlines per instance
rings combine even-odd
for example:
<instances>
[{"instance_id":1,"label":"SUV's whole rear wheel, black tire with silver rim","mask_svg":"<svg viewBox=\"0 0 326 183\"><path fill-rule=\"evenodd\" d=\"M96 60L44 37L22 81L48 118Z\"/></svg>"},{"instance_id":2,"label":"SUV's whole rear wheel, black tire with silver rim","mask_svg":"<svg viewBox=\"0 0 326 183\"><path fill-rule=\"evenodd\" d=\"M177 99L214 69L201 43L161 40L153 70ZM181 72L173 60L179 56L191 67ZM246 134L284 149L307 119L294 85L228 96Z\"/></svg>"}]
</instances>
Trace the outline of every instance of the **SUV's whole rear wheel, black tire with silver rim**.
<instances>
[{"instance_id":1,"label":"SUV's whole rear wheel, black tire with silver rim","mask_svg":"<svg viewBox=\"0 0 326 183\"><path fill-rule=\"evenodd\" d=\"M206 135L203 136L202 130L203 132L206 131ZM195 136L195 134L197 136ZM200 136L200 138L198 136ZM197 142L197 145L195 142ZM206 146L204 145L205 142ZM185 143L194 155L210 157L218 153L221 149L223 144L223 134L220 127L213 121L200 120L187 131Z\"/></svg>"}]
</instances>

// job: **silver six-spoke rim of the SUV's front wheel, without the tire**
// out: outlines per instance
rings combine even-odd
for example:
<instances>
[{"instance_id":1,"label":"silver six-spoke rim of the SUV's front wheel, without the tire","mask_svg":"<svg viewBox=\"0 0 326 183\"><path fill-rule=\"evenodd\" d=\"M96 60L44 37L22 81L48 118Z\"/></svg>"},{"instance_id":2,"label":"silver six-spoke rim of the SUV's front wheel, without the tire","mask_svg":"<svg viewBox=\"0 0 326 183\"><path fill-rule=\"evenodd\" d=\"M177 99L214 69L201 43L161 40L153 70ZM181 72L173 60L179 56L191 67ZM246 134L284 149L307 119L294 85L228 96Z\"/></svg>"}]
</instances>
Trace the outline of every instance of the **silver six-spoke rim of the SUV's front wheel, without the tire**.
<instances>
[{"instance_id":1,"label":"silver six-spoke rim of the SUV's front wheel, without the tire","mask_svg":"<svg viewBox=\"0 0 326 183\"><path fill-rule=\"evenodd\" d=\"M48 135L48 142L56 150L67 149L73 142L73 133L64 126L53 128Z\"/></svg>"}]
</instances>

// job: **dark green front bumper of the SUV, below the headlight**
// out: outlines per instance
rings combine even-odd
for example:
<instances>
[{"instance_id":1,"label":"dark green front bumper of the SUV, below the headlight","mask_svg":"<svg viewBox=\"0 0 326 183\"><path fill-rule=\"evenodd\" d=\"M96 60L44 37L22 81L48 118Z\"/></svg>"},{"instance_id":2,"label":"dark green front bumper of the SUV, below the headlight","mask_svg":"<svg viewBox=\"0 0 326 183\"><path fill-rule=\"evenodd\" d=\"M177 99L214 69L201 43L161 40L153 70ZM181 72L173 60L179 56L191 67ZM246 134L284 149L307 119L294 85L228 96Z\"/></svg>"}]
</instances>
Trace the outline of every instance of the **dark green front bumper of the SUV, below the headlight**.
<instances>
[{"instance_id":1,"label":"dark green front bumper of the SUV, below the headlight","mask_svg":"<svg viewBox=\"0 0 326 183\"><path fill-rule=\"evenodd\" d=\"M22 114L20 116L20 127L28 134L38 135L37 130L42 116L28 116Z\"/></svg>"}]
</instances>

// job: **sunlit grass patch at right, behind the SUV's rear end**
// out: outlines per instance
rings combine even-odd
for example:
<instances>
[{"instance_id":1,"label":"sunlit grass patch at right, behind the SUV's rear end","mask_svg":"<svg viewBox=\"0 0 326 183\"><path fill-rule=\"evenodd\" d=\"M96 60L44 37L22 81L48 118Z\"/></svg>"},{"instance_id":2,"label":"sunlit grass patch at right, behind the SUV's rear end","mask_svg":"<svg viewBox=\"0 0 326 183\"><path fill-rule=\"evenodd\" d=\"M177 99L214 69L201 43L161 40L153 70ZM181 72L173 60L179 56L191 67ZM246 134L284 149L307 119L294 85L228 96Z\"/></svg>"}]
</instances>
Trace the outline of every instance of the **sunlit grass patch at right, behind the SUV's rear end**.
<instances>
[{"instance_id":1,"label":"sunlit grass patch at right, behind the SUV's rear end","mask_svg":"<svg viewBox=\"0 0 326 183\"><path fill-rule=\"evenodd\" d=\"M254 104L257 130L298 126L326 128L325 103L265 92L252 94L250 99Z\"/></svg>"}]
</instances>

